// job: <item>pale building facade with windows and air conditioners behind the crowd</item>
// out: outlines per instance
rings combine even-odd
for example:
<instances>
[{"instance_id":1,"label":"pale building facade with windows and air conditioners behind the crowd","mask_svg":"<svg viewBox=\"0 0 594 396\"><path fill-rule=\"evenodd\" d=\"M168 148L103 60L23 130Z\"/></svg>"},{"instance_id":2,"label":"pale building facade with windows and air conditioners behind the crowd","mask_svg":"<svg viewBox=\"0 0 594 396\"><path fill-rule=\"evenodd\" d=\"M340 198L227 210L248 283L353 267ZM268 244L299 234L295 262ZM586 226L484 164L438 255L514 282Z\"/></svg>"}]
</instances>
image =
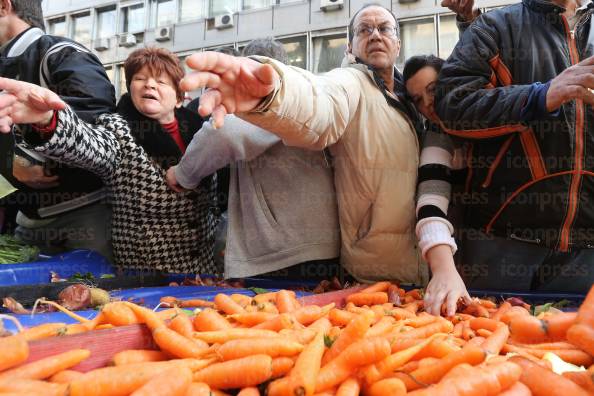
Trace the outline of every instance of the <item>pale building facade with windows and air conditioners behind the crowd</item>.
<instances>
[{"instance_id":1,"label":"pale building facade with windows and air conditioners behind the crowd","mask_svg":"<svg viewBox=\"0 0 594 396\"><path fill-rule=\"evenodd\" d=\"M476 0L475 0L476 1ZM478 0L485 10L517 0ZM50 34L73 38L93 50L117 95L126 91L122 62L147 45L185 58L220 46L239 50L250 40L275 37L290 63L314 73L340 65L351 16L370 0L44 0ZM447 58L456 42L455 16L441 0L376 0L400 22L397 61L416 54Z\"/></svg>"}]
</instances>

